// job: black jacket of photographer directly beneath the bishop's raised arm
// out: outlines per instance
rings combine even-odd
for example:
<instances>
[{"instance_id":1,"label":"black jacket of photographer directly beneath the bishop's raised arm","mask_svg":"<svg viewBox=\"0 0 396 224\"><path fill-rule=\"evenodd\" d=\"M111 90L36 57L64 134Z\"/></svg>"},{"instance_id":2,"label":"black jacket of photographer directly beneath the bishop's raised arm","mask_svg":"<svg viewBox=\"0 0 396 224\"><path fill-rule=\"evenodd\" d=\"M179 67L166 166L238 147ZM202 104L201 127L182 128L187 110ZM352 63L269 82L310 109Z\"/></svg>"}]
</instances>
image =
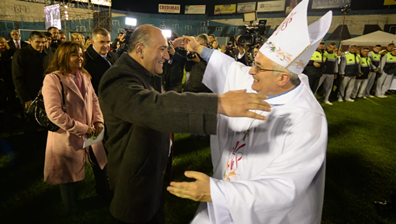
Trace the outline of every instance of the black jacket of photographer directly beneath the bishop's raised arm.
<instances>
[{"instance_id":1,"label":"black jacket of photographer directly beneath the bishop's raised arm","mask_svg":"<svg viewBox=\"0 0 396 224\"><path fill-rule=\"evenodd\" d=\"M188 82L184 87L184 91L211 93L212 91L208 87L206 87L204 83L202 83L202 79L204 78L204 73L206 69L206 62L199 55L197 56L200 58L200 62L198 63L193 61L187 62L187 63L191 63L192 67L190 70L190 79L188 79Z\"/></svg>"}]
</instances>

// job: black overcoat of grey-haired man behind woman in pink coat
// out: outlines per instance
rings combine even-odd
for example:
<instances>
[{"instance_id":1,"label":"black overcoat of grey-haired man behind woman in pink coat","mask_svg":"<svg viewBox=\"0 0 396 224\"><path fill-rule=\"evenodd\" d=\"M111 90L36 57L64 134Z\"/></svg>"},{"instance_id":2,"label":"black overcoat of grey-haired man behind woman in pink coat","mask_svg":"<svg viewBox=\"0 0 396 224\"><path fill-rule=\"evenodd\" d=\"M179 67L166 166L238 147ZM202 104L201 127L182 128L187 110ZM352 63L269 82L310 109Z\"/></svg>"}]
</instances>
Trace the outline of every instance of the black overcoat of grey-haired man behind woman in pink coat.
<instances>
[{"instance_id":1,"label":"black overcoat of grey-haired man behind woman in pink coat","mask_svg":"<svg viewBox=\"0 0 396 224\"><path fill-rule=\"evenodd\" d=\"M118 56L111 51L107 53L107 60L111 64L114 64L118 60ZM87 51L85 52L85 69L92 76L91 83L93 90L98 94L98 87L100 79L103 74L111 67L109 62L105 58L99 55L92 45L89 45Z\"/></svg>"}]
</instances>

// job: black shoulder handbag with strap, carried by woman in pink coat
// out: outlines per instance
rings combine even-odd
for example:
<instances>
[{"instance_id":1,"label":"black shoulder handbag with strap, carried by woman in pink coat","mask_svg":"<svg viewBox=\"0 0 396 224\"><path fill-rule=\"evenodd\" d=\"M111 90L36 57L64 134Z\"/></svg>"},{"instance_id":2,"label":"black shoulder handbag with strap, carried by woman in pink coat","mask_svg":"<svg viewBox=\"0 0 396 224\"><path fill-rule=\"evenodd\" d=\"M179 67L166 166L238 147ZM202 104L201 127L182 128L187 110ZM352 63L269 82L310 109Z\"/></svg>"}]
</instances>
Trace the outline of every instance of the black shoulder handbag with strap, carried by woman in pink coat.
<instances>
[{"instance_id":1,"label":"black shoulder handbag with strap, carried by woman in pink coat","mask_svg":"<svg viewBox=\"0 0 396 224\"><path fill-rule=\"evenodd\" d=\"M65 92L63 90L63 84L62 84L61 78L59 78L59 76L57 74L55 74L55 73L53 73L53 74L56 75L59 79L59 82L61 82L62 111L66 112ZM42 126L43 128L45 128L51 132L56 132L57 130L59 130L59 126L57 126L51 120L48 119L48 116L46 113L46 108L44 107L44 98L43 98L43 94L41 93L41 90L42 89L40 89L40 91L38 92L36 99L34 99L32 101L32 103L29 105L29 107L27 107L25 113L34 117L34 119L36 119L38 124L40 124L40 126Z\"/></svg>"}]
</instances>

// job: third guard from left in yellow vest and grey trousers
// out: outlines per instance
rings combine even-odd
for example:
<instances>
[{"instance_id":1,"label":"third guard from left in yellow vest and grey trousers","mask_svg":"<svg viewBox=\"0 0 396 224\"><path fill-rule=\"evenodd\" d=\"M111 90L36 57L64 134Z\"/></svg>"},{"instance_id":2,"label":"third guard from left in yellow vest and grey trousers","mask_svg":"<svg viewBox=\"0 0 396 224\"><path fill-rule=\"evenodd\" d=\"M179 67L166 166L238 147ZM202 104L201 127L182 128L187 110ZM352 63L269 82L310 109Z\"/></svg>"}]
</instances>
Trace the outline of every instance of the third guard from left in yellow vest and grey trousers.
<instances>
[{"instance_id":1,"label":"third guard from left in yellow vest and grey trousers","mask_svg":"<svg viewBox=\"0 0 396 224\"><path fill-rule=\"evenodd\" d=\"M338 102L354 102L350 98L352 90L355 86L356 76L360 75L360 55L356 53L358 45L351 44L349 51L341 57L339 66L339 75L342 78L340 89L338 92Z\"/></svg>"}]
</instances>

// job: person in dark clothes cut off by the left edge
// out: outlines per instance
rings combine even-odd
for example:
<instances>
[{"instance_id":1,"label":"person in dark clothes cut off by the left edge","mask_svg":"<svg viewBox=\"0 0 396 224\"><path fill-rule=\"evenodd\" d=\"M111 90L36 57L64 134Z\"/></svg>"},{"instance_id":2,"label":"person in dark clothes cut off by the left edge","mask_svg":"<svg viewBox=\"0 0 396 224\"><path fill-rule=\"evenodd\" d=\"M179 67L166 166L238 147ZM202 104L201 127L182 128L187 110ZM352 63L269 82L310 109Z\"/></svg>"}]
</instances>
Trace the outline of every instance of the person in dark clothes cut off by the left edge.
<instances>
[{"instance_id":1,"label":"person in dark clothes cut off by the left edge","mask_svg":"<svg viewBox=\"0 0 396 224\"><path fill-rule=\"evenodd\" d=\"M0 79L3 79L4 82L1 83L0 80L0 84L3 84L0 87L2 89L0 92L4 93L0 102L5 102L8 99L8 102L11 103L15 99L15 86L12 82L11 73L11 61L15 51L15 49L10 48L6 38L0 36Z\"/></svg>"}]
</instances>

